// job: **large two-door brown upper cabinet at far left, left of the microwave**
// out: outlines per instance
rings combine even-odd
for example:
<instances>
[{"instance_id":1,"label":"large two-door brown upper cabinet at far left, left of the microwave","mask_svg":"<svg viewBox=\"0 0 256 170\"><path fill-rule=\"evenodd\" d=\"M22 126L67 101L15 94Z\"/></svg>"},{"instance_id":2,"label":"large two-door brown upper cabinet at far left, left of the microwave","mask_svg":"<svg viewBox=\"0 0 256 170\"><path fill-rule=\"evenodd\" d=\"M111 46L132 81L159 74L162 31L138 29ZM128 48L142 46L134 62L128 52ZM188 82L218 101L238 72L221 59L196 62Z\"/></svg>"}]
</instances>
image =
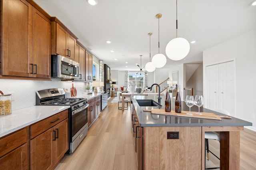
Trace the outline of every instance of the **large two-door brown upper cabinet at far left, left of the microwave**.
<instances>
[{"instance_id":1,"label":"large two-door brown upper cabinet at far left, left of the microwave","mask_svg":"<svg viewBox=\"0 0 256 170\"><path fill-rule=\"evenodd\" d=\"M1 0L1 6L1 74L50 78L50 16L26 0Z\"/></svg>"}]
</instances>

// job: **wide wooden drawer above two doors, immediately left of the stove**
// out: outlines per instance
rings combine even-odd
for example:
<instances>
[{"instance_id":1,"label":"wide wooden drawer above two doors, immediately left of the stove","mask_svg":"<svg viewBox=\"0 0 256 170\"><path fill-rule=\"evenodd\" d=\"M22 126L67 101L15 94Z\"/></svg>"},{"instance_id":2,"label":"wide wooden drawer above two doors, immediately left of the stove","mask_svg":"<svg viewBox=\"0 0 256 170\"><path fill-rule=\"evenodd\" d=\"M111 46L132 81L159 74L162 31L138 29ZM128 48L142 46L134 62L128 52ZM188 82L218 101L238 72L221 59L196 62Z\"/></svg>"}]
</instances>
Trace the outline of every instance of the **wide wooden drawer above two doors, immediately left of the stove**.
<instances>
[{"instance_id":1,"label":"wide wooden drawer above two doors, immediately left of the stove","mask_svg":"<svg viewBox=\"0 0 256 170\"><path fill-rule=\"evenodd\" d=\"M68 118L68 109L30 126L30 139Z\"/></svg>"}]
</instances>

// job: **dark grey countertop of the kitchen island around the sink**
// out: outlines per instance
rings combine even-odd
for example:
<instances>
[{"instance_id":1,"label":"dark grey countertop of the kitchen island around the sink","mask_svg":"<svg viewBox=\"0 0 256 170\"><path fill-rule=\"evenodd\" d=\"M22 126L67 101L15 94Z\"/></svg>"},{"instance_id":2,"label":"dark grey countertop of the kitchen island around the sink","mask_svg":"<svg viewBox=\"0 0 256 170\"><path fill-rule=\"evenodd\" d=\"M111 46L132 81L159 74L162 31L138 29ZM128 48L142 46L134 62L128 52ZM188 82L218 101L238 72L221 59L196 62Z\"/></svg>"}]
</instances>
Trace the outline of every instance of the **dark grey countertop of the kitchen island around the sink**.
<instances>
[{"instance_id":1,"label":"dark grey countertop of the kitchen island around the sink","mask_svg":"<svg viewBox=\"0 0 256 170\"><path fill-rule=\"evenodd\" d=\"M189 117L165 116L151 114L151 112L144 112L143 109L157 109L158 107L140 107L136 99L153 99L158 102L158 95L132 95L132 103L138 115L138 121L141 127L210 127L210 126L252 126L252 123L232 117L232 119L211 120L211 119L198 119ZM165 95L161 96L161 105L164 109ZM174 110L175 99L171 99L171 110ZM182 102L182 110L189 111L185 102ZM198 111L198 106L192 106L191 111ZM200 112L214 113L216 115L224 115L216 111L212 111L200 107Z\"/></svg>"}]
</instances>

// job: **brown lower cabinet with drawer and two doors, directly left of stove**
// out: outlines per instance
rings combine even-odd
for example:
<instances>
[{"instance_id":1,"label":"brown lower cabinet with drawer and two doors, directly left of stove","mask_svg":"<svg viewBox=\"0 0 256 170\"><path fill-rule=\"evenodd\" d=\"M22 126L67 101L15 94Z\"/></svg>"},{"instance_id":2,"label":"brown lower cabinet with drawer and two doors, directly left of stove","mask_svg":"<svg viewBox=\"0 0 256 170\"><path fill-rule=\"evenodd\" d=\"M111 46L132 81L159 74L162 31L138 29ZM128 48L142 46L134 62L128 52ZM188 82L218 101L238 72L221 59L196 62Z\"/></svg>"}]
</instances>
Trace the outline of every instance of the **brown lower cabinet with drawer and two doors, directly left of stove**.
<instances>
[{"instance_id":1,"label":"brown lower cabinet with drawer and two doors, directly left of stove","mask_svg":"<svg viewBox=\"0 0 256 170\"><path fill-rule=\"evenodd\" d=\"M30 169L53 169L68 150L68 111L30 126L30 133L40 133L30 139Z\"/></svg>"}]
</instances>

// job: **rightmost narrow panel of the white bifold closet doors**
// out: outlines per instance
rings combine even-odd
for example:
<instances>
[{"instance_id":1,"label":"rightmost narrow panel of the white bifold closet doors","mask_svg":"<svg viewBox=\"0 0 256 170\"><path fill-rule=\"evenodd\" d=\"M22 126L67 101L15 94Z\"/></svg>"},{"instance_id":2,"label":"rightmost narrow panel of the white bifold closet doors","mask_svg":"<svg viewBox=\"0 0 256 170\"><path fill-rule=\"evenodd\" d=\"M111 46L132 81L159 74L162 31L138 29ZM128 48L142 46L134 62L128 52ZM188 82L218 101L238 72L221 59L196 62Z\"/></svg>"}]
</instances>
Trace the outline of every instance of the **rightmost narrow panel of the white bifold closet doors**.
<instances>
[{"instance_id":1,"label":"rightmost narrow panel of the white bifold closet doors","mask_svg":"<svg viewBox=\"0 0 256 170\"><path fill-rule=\"evenodd\" d=\"M226 89L226 111L230 113L231 116L235 116L235 72L234 72L234 61L229 61L227 64L227 89Z\"/></svg>"}]
</instances>

